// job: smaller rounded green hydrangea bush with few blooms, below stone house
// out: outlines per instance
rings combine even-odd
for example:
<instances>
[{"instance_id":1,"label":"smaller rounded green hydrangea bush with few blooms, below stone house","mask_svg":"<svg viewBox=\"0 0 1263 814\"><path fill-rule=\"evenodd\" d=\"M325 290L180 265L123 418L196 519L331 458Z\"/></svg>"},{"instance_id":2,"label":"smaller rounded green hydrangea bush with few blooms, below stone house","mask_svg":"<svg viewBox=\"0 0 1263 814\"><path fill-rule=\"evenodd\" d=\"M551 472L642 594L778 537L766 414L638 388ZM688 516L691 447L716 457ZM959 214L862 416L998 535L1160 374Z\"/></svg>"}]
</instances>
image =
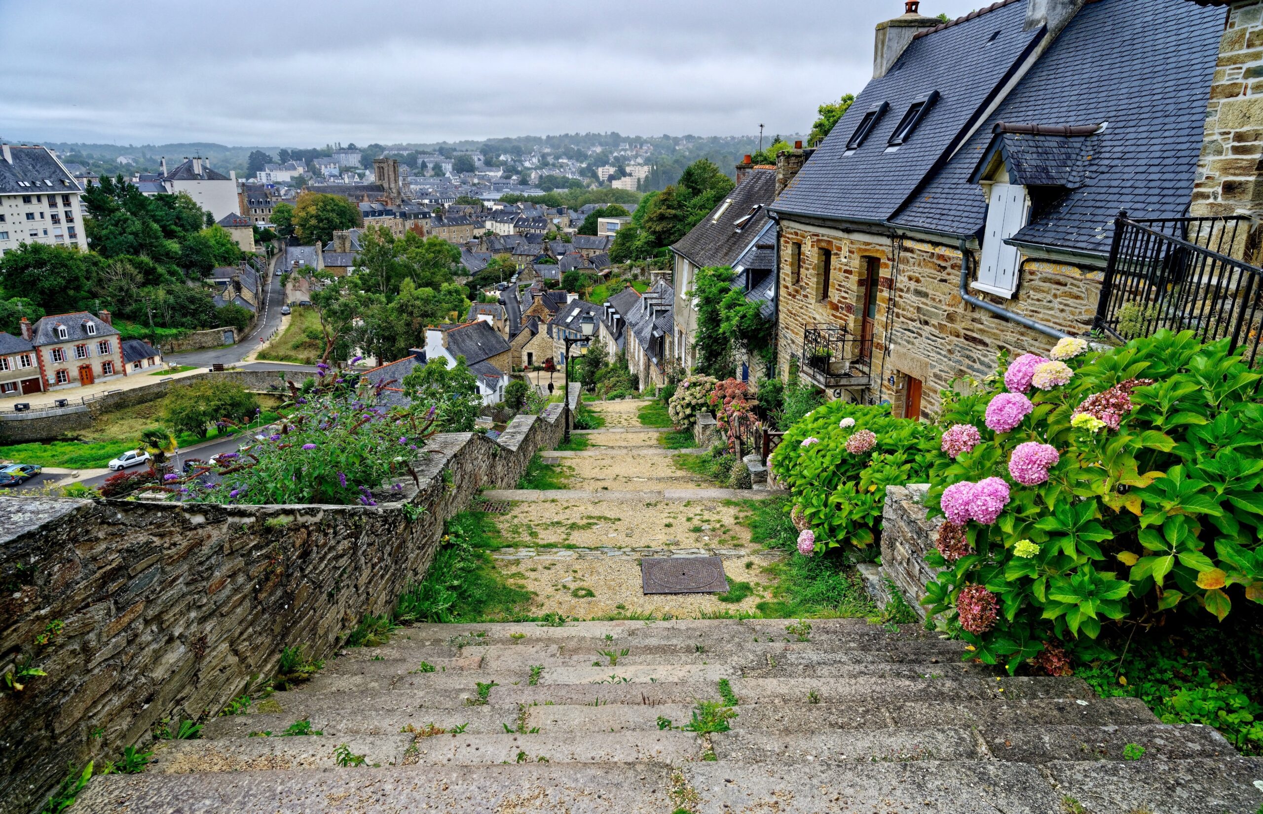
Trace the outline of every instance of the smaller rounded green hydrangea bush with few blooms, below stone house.
<instances>
[{"instance_id":1,"label":"smaller rounded green hydrangea bush with few blooms, below stone house","mask_svg":"<svg viewBox=\"0 0 1263 814\"><path fill-rule=\"evenodd\" d=\"M923 481L938 444L932 425L889 408L831 401L786 432L770 466L793 491L794 522L815 533L816 550L863 546L875 540L885 487Z\"/></svg>"}]
</instances>

